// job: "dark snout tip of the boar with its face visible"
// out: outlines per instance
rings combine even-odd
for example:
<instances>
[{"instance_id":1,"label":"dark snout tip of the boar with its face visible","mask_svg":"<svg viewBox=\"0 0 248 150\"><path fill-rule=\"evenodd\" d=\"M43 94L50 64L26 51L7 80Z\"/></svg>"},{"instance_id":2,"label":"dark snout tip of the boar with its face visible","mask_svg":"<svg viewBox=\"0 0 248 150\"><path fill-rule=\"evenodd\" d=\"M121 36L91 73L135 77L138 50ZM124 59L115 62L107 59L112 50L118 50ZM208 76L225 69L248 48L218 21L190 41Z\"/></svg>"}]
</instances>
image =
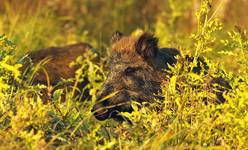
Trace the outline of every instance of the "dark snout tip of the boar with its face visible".
<instances>
[{"instance_id":1,"label":"dark snout tip of the boar with its face visible","mask_svg":"<svg viewBox=\"0 0 248 150\"><path fill-rule=\"evenodd\" d=\"M109 118L109 111L102 104L95 104L91 112L97 120L103 121Z\"/></svg>"}]
</instances>

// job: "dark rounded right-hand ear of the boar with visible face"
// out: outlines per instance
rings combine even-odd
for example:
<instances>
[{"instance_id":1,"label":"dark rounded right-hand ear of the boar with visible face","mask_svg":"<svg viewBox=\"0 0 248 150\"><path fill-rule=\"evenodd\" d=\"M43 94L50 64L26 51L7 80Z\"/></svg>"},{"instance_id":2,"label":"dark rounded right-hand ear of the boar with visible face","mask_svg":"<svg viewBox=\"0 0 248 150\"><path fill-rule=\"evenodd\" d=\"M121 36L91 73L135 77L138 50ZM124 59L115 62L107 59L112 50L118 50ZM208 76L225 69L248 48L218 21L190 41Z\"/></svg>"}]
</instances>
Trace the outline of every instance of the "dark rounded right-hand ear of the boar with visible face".
<instances>
[{"instance_id":1,"label":"dark rounded right-hand ear of the boar with visible face","mask_svg":"<svg viewBox=\"0 0 248 150\"><path fill-rule=\"evenodd\" d=\"M136 52L143 58L155 57L158 51L158 39L152 34L142 34L135 43Z\"/></svg>"}]
</instances>

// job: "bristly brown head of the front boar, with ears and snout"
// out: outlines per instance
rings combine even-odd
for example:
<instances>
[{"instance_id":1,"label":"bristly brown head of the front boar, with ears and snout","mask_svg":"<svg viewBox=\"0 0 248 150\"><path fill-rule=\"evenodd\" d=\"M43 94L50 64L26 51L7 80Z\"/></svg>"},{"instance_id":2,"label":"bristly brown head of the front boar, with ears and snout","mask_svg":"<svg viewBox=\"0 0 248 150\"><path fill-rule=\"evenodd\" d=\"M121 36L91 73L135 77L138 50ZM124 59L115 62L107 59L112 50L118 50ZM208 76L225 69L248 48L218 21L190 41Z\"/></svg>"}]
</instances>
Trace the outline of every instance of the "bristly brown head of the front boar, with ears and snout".
<instances>
[{"instance_id":1,"label":"bristly brown head of the front boar, with ears and snout","mask_svg":"<svg viewBox=\"0 0 248 150\"><path fill-rule=\"evenodd\" d=\"M120 32L115 33L110 73L92 109L95 117L98 120L123 119L119 112L132 112L131 100L141 103L159 98L156 93L161 91L160 84L167 75L164 69L177 62L177 55L180 53L176 49L159 49L158 39L151 34L126 37ZM186 61L192 60L186 58ZM193 72L199 73L200 64L208 69L201 58L197 61Z\"/></svg>"}]
</instances>

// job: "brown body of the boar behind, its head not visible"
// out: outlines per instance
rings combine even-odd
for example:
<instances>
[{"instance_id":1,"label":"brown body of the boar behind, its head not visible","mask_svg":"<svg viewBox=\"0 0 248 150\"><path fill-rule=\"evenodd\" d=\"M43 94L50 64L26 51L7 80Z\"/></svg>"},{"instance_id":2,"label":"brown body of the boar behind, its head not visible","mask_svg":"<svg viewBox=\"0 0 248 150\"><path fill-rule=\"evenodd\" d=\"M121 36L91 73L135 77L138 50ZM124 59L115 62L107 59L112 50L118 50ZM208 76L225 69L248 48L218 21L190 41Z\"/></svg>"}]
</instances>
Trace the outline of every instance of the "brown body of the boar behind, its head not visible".
<instances>
[{"instance_id":1,"label":"brown body of the boar behind, its head not visible","mask_svg":"<svg viewBox=\"0 0 248 150\"><path fill-rule=\"evenodd\" d=\"M32 82L33 84L41 83L47 85L49 83L50 85L56 85L62 78L68 79L75 77L75 71L78 69L78 66L69 66L70 63L75 61L78 56L82 56L91 50L91 48L87 43L77 43L64 47L49 47L36 50L28 54L31 62L26 61L21 71L25 72L31 64L35 66L45 60L45 63L34 74ZM78 84L78 88L82 89L87 83L88 80L85 79L82 83ZM49 92L51 91L43 91L42 100L44 103L51 99L51 96L48 95ZM84 93L83 98L87 96L88 91Z\"/></svg>"}]
</instances>

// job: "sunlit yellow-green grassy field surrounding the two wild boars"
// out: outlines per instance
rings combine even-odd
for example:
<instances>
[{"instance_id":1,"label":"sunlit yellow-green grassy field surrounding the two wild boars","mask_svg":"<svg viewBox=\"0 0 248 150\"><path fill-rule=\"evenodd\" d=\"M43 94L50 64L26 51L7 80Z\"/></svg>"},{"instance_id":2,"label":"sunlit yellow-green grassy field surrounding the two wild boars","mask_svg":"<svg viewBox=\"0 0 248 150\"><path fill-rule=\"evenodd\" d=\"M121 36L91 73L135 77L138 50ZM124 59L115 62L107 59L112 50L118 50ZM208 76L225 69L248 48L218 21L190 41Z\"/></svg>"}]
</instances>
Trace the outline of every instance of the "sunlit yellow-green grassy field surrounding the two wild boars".
<instances>
[{"instance_id":1,"label":"sunlit yellow-green grassy field surrounding the two wild boars","mask_svg":"<svg viewBox=\"0 0 248 150\"><path fill-rule=\"evenodd\" d=\"M0 149L246 149L247 9L247 0L0 1ZM232 87L224 95L227 102L206 105L204 97L214 95L204 86L192 88L206 78L182 72L182 62L161 85L165 99L159 105L133 102L134 112L123 113L132 124L97 121L91 108L108 72L104 64L116 30L127 35L149 31L161 47L205 56L210 75ZM82 41L94 47L102 62L94 64L91 52L75 62L82 66L75 78L89 78L91 98L79 101L67 92L61 102L62 90L57 90L43 104L42 90L54 87L32 84L32 75L27 80L20 71L24 56Z\"/></svg>"}]
</instances>

